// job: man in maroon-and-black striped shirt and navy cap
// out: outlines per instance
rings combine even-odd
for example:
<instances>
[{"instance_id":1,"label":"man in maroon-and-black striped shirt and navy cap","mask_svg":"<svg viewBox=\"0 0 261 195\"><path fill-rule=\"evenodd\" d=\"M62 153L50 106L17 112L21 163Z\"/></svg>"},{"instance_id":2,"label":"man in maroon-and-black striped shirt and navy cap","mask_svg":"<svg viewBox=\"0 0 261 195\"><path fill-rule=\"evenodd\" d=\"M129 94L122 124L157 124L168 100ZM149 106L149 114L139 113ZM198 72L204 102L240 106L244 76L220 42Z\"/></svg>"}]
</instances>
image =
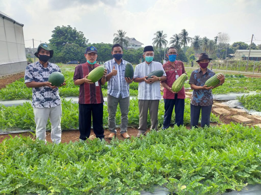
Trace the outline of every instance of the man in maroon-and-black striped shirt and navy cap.
<instances>
[{"instance_id":1,"label":"man in maroon-and-black striped shirt and navy cap","mask_svg":"<svg viewBox=\"0 0 261 195\"><path fill-rule=\"evenodd\" d=\"M85 141L91 133L91 120L93 132L100 140L104 139L103 129L103 95L102 87L106 83L107 71L104 70L103 77L93 83L88 80L88 74L96 67L97 49L93 46L87 47L84 56L87 62L75 67L73 81L80 85L79 94L79 130L80 139Z\"/></svg>"}]
</instances>

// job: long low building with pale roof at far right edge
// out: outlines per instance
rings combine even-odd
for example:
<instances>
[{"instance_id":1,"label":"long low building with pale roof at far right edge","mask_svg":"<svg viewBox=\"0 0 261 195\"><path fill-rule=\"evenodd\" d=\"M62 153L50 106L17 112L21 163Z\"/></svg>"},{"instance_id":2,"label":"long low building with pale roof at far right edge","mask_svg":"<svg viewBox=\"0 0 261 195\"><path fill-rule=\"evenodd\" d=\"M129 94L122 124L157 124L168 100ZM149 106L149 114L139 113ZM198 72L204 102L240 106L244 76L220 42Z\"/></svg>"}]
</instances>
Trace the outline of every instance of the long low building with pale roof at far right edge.
<instances>
[{"instance_id":1,"label":"long low building with pale roof at far right edge","mask_svg":"<svg viewBox=\"0 0 261 195\"><path fill-rule=\"evenodd\" d=\"M235 60L247 60L249 50L238 49L234 53ZM261 61L261 50L251 50L249 55L249 60Z\"/></svg>"}]
</instances>

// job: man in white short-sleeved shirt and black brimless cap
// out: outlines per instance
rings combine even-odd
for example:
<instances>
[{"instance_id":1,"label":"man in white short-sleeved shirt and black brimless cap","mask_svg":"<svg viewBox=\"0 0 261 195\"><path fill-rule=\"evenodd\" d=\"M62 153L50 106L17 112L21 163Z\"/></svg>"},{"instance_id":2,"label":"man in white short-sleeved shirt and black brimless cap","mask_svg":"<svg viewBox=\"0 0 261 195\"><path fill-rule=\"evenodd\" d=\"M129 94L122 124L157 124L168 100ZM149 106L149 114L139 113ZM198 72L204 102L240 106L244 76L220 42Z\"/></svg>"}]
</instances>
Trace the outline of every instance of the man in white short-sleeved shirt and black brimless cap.
<instances>
[{"instance_id":1,"label":"man in white short-sleeved shirt and black brimless cap","mask_svg":"<svg viewBox=\"0 0 261 195\"><path fill-rule=\"evenodd\" d=\"M159 100L161 99L160 81L166 80L166 73L161 77L151 76L151 79L146 79L147 75L154 70L163 70L160 62L154 62L154 50L152 46L144 47L143 57L145 62L138 64L134 71L134 82L139 83L138 99L139 99L139 132L138 137L144 135L147 131L147 115L150 110L151 129L158 129L158 108Z\"/></svg>"}]
</instances>

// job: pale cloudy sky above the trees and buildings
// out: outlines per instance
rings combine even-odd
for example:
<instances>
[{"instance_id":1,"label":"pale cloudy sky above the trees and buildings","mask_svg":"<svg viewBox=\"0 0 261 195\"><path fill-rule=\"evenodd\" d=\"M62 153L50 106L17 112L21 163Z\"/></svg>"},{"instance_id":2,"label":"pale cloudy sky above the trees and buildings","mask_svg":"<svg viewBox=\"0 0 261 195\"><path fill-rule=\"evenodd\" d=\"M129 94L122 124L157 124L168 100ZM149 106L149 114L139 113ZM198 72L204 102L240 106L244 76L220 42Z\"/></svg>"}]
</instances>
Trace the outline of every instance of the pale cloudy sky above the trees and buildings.
<instances>
[{"instance_id":1,"label":"pale cloudy sky above the trees and buildings","mask_svg":"<svg viewBox=\"0 0 261 195\"><path fill-rule=\"evenodd\" d=\"M152 44L158 30L169 41L184 28L190 37L213 39L224 32L230 44L250 44L252 34L261 40L260 8L260 0L0 0L0 11L24 24L25 40L49 42L56 26L71 25L91 43L112 43L113 34L122 29L144 46ZM25 46L32 47L32 41Z\"/></svg>"}]
</instances>

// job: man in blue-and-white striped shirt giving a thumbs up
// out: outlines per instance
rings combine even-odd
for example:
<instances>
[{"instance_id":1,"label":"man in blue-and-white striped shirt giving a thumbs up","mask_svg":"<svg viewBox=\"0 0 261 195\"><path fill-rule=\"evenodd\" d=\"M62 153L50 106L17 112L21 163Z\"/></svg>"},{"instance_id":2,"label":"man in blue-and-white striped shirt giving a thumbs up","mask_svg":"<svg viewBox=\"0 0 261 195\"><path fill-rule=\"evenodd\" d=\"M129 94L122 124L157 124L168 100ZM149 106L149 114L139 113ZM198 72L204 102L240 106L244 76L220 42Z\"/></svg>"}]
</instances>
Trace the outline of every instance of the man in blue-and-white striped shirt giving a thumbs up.
<instances>
[{"instance_id":1,"label":"man in blue-and-white striped shirt giving a thumbs up","mask_svg":"<svg viewBox=\"0 0 261 195\"><path fill-rule=\"evenodd\" d=\"M122 59L122 46L120 44L114 44L111 54L114 58L104 64L107 68L106 81L108 81L108 126L111 132L109 139L112 139L117 133L115 116L118 104L121 110L120 133L123 138L128 139L130 137L127 133L130 105L129 84L133 81L133 78L124 77L125 66L129 62Z\"/></svg>"}]
</instances>

